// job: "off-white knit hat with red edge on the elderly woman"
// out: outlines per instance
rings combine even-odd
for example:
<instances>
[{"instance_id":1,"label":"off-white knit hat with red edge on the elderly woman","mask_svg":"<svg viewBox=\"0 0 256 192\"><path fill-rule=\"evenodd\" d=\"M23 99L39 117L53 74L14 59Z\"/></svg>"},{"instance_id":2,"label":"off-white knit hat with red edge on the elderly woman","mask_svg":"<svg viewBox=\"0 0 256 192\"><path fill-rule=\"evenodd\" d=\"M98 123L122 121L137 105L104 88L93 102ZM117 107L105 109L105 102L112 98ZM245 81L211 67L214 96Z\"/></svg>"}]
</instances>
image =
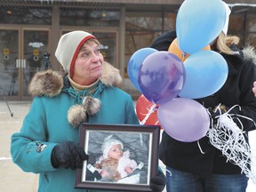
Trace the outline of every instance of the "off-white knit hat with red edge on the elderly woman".
<instances>
[{"instance_id":1,"label":"off-white knit hat with red edge on the elderly woman","mask_svg":"<svg viewBox=\"0 0 256 192\"><path fill-rule=\"evenodd\" d=\"M85 31L72 31L60 37L55 57L69 76L73 76L74 64L81 46L90 38L96 38Z\"/></svg>"}]
</instances>

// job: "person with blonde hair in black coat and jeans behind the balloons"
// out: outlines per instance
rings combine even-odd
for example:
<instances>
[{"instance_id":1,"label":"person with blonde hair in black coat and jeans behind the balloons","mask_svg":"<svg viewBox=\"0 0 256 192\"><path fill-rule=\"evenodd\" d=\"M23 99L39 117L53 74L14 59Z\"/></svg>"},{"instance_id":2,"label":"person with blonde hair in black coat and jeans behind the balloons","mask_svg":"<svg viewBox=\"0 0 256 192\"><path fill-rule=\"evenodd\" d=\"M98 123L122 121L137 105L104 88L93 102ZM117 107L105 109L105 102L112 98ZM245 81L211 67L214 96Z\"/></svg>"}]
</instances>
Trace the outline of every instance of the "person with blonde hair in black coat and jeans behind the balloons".
<instances>
[{"instance_id":1,"label":"person with blonde hair in black coat and jeans behind the balloons","mask_svg":"<svg viewBox=\"0 0 256 192\"><path fill-rule=\"evenodd\" d=\"M175 38L175 30L168 31L158 36L150 47L167 51ZM196 101L211 111L213 124L220 112L232 114L248 143L248 132L255 130L256 122L256 98L252 92L256 92L256 88L252 89L256 79L256 54L252 47L240 50L237 44L239 37L227 36L227 30L221 31L212 42L212 51L219 52L228 63L228 79L218 92ZM214 110L218 106L220 110ZM167 192L245 192L247 188L248 177L211 144L208 136L194 142L182 142L163 132L159 158L166 165ZM250 169L250 164L246 166Z\"/></svg>"}]
</instances>

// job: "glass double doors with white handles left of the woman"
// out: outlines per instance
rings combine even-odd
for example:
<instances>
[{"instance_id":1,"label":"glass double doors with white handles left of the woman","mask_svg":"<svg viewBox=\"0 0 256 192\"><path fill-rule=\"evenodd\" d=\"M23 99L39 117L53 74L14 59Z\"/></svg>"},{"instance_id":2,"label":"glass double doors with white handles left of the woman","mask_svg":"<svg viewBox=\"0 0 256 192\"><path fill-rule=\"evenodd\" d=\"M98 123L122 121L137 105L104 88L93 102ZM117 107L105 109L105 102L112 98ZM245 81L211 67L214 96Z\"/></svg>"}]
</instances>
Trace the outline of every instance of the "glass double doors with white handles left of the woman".
<instances>
[{"instance_id":1,"label":"glass double doors with white handles left of the woman","mask_svg":"<svg viewBox=\"0 0 256 192\"><path fill-rule=\"evenodd\" d=\"M51 68L49 29L0 28L0 100L31 100L28 84Z\"/></svg>"}]
</instances>

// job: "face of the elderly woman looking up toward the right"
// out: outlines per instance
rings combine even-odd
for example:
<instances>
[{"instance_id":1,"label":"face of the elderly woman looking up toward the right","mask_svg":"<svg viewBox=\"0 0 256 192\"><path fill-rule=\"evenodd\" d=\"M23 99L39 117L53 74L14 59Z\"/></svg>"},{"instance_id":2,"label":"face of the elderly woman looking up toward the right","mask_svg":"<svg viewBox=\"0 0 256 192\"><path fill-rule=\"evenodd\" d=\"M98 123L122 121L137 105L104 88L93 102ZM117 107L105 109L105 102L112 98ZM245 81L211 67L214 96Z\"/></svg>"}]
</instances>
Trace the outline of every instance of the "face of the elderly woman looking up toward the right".
<instances>
[{"instance_id":1,"label":"face of the elderly woman looking up toward the right","mask_svg":"<svg viewBox=\"0 0 256 192\"><path fill-rule=\"evenodd\" d=\"M81 85L93 84L101 76L103 61L99 44L85 42L76 57L72 79Z\"/></svg>"}]
</instances>

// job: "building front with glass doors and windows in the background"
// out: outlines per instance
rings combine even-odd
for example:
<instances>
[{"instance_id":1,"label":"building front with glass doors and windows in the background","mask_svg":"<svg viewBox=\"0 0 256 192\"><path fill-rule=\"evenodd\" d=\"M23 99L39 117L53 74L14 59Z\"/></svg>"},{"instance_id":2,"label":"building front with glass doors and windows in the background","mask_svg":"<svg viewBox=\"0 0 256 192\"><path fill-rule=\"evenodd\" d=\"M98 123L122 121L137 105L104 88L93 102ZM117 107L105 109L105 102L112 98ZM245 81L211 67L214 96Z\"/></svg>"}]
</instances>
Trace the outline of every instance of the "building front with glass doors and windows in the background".
<instances>
[{"instance_id":1,"label":"building front with glass doors and windows in the background","mask_svg":"<svg viewBox=\"0 0 256 192\"><path fill-rule=\"evenodd\" d=\"M228 34L240 45L256 47L255 0L226 0L232 12ZM0 100L31 100L28 84L37 71L60 70L54 52L60 36L85 30L97 36L105 60L120 69L124 91L140 95L130 83L132 53L156 36L175 29L183 0L1 0ZM196 5L195 5L196 6ZM193 7L191 7L193 9Z\"/></svg>"}]
</instances>

